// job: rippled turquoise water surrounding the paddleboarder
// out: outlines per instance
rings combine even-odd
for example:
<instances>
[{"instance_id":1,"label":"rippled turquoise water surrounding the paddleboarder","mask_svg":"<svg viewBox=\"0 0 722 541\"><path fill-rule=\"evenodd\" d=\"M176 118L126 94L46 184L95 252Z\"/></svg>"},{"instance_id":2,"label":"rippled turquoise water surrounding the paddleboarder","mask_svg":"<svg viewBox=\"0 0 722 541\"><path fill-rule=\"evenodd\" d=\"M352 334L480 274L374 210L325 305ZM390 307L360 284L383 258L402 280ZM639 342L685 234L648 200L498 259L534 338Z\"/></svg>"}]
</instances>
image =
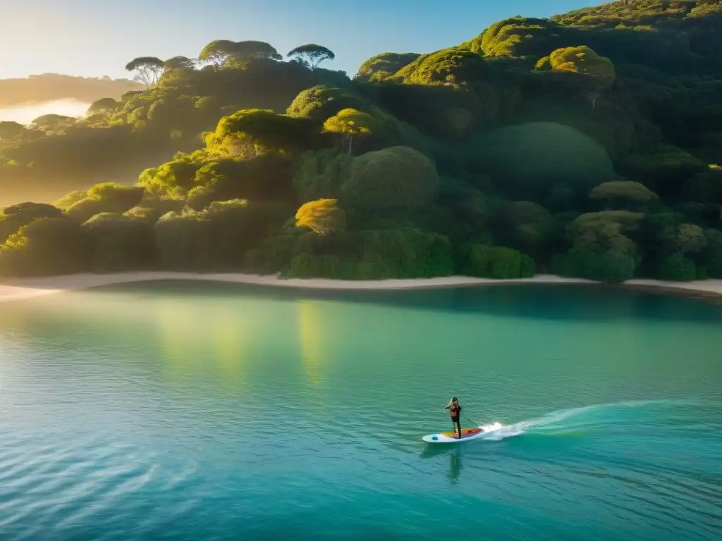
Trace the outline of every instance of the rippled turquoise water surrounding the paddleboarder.
<instances>
[{"instance_id":1,"label":"rippled turquoise water surrounding the paddleboarder","mask_svg":"<svg viewBox=\"0 0 722 541\"><path fill-rule=\"evenodd\" d=\"M719 539L721 330L578 286L6 304L0 539ZM427 446L451 395L504 430Z\"/></svg>"}]
</instances>

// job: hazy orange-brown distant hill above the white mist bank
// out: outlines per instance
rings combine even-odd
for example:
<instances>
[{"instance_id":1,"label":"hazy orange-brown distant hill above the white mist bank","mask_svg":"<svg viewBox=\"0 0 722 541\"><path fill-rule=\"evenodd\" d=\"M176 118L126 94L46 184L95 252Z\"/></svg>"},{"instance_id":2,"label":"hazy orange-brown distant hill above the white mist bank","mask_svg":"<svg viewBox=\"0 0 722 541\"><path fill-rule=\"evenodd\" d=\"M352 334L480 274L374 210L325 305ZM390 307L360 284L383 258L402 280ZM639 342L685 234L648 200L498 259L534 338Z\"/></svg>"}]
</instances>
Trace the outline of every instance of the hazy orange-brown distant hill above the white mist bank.
<instances>
[{"instance_id":1,"label":"hazy orange-brown distant hill above the white mist bank","mask_svg":"<svg viewBox=\"0 0 722 541\"><path fill-rule=\"evenodd\" d=\"M118 99L144 85L130 79L74 77L61 74L31 75L25 79L0 79L0 109L32 102L77 100L94 102L101 97Z\"/></svg>"}]
</instances>

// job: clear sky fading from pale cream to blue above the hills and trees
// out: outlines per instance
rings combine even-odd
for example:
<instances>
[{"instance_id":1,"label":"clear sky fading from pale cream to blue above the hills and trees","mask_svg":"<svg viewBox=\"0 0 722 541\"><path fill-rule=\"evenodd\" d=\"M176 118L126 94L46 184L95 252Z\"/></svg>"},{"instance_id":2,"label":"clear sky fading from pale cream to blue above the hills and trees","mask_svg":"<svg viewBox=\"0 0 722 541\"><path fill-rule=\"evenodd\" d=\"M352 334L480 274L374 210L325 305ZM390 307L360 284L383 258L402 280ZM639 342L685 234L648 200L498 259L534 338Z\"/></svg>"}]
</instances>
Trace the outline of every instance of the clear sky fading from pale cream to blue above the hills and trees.
<instances>
[{"instance_id":1,"label":"clear sky fading from pale cream to blue above the hills and trees","mask_svg":"<svg viewBox=\"0 0 722 541\"><path fill-rule=\"evenodd\" d=\"M325 66L354 74L385 51L425 53L523 14L549 17L589 0L1 0L0 78L45 72L126 77L136 56L198 56L209 41L262 40L279 53L325 45ZM443 5L453 7L442 7Z\"/></svg>"}]
</instances>

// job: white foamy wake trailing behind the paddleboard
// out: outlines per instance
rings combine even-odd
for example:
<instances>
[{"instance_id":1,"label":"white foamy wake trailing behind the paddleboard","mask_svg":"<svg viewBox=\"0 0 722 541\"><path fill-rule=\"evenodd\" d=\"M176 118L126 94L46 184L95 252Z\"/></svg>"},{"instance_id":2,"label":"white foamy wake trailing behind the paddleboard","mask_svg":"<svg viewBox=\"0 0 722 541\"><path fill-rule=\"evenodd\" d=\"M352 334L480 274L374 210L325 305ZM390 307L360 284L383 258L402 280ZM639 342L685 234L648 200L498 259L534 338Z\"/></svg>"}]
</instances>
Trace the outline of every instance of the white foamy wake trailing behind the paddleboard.
<instances>
[{"instance_id":1,"label":"white foamy wake trailing behind the paddleboard","mask_svg":"<svg viewBox=\"0 0 722 541\"><path fill-rule=\"evenodd\" d=\"M630 400L611 404L594 404L581 408L569 408L567 410L556 410L510 425L505 425L497 431L492 432L483 439L499 441L502 439L521 436L521 434L554 434L592 428L600 424L625 422L624 419L612 419L606 414L618 414L619 410L630 408L644 408L651 405L692 405L697 403L694 400Z\"/></svg>"}]
</instances>

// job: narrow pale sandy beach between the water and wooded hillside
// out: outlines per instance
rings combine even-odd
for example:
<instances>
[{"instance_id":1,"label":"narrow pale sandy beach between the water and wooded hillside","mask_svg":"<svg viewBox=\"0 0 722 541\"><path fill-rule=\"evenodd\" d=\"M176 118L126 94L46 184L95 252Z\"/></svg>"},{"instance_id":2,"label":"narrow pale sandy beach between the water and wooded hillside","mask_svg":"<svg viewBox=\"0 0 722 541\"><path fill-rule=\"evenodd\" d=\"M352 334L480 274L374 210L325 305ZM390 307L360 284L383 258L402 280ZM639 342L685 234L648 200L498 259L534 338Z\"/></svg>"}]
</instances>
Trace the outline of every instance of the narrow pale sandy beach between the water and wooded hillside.
<instances>
[{"instance_id":1,"label":"narrow pale sandy beach between the water and wooded hillside","mask_svg":"<svg viewBox=\"0 0 722 541\"><path fill-rule=\"evenodd\" d=\"M655 294L671 294L712 301L722 305L722 280L704 280L694 282L671 282L659 280L630 280L618 286L606 286L603 283L585 278L565 278L553 274L539 274L533 278L495 280L494 278L473 278L471 276L440 276L437 278L391 278L387 280L344 281L329 278L279 278L275 275L255 275L243 273L183 273L165 271L140 271L108 274L70 274L64 276L43 276L38 278L17 278L0 283L0 304L21 301L38 296L93 289L123 283L149 281L211 281L239 283L251 286L275 286L295 289L324 289L340 291L389 291L398 289L448 289L470 286L494 286L505 284L588 284L591 286L637 289Z\"/></svg>"}]
</instances>

